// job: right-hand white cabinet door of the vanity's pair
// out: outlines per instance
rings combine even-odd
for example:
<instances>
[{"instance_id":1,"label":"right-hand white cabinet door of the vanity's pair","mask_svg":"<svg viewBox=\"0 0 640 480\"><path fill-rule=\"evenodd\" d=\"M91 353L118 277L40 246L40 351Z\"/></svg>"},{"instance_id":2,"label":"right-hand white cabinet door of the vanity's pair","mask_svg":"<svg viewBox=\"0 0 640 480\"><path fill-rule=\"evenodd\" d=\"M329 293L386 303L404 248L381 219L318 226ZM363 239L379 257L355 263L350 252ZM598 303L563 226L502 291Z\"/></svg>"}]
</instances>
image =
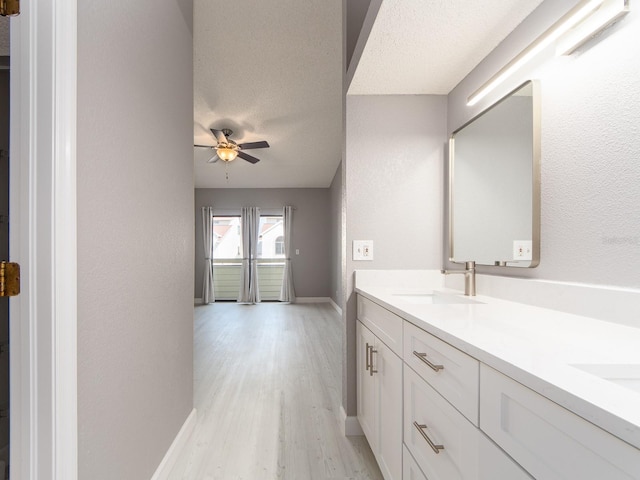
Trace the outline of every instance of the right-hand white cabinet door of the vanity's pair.
<instances>
[{"instance_id":1,"label":"right-hand white cabinet door of the vanity's pair","mask_svg":"<svg viewBox=\"0 0 640 480\"><path fill-rule=\"evenodd\" d=\"M402 360L376 339L373 354L377 385L378 451L376 458L385 480L402 478Z\"/></svg>"}]
</instances>

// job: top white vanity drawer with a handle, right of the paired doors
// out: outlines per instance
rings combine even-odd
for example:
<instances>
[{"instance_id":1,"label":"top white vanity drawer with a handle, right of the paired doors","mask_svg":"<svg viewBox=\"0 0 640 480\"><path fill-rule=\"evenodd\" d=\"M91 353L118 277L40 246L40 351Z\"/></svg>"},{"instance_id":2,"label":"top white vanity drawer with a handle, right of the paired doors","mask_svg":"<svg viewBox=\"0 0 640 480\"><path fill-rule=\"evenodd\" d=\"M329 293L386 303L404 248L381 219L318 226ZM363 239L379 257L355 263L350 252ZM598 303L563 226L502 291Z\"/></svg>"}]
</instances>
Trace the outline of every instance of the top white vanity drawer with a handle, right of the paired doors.
<instances>
[{"instance_id":1,"label":"top white vanity drawer with a handle, right of the paired doors","mask_svg":"<svg viewBox=\"0 0 640 480\"><path fill-rule=\"evenodd\" d=\"M429 382L474 425L478 425L480 367L475 358L410 322L404 322L403 357L407 365Z\"/></svg>"}]
</instances>

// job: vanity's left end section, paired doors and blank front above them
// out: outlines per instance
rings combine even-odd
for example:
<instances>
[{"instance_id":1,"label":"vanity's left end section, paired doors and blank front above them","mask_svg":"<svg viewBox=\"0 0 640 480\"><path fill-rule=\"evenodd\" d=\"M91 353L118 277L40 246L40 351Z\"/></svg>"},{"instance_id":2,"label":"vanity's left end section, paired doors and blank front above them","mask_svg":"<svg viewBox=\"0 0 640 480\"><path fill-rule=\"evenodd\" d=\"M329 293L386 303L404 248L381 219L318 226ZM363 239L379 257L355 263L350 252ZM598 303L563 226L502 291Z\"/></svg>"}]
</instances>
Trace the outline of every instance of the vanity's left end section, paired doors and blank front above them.
<instances>
[{"instance_id":1,"label":"vanity's left end section, paired doors and blank front above them","mask_svg":"<svg viewBox=\"0 0 640 480\"><path fill-rule=\"evenodd\" d=\"M402 359L374 331L399 346L402 344L402 319L384 309L382 315L377 315L378 309L381 307L358 297L358 421L385 480L401 480Z\"/></svg>"}]
</instances>

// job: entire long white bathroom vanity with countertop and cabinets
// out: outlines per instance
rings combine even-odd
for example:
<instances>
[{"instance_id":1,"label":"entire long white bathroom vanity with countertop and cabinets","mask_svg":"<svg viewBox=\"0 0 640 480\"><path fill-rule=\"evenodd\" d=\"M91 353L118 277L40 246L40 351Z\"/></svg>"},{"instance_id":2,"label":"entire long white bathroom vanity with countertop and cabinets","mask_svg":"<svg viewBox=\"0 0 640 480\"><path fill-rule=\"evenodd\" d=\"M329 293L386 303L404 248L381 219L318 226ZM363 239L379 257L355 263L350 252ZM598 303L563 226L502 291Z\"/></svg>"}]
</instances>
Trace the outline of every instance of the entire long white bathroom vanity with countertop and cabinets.
<instances>
[{"instance_id":1,"label":"entire long white bathroom vanity with countertop and cabinets","mask_svg":"<svg viewBox=\"0 0 640 480\"><path fill-rule=\"evenodd\" d=\"M640 329L367 274L358 419L387 480L640 479Z\"/></svg>"}]
</instances>

